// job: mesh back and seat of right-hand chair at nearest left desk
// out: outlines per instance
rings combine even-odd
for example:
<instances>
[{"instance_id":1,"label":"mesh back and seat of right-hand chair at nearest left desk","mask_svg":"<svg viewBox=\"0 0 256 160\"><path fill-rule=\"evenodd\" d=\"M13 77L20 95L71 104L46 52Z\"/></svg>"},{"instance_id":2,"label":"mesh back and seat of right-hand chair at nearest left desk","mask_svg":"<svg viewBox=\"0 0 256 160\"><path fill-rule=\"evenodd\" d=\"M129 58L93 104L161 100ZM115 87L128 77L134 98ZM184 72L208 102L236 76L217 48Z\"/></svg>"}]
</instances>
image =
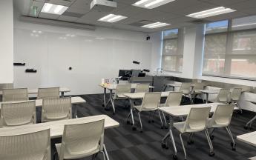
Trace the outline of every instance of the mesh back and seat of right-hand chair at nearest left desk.
<instances>
[{"instance_id":1,"label":"mesh back and seat of right-hand chair at nearest left desk","mask_svg":"<svg viewBox=\"0 0 256 160\"><path fill-rule=\"evenodd\" d=\"M64 127L62 144L56 144L59 160L80 159L103 150L104 119Z\"/></svg>"}]
</instances>

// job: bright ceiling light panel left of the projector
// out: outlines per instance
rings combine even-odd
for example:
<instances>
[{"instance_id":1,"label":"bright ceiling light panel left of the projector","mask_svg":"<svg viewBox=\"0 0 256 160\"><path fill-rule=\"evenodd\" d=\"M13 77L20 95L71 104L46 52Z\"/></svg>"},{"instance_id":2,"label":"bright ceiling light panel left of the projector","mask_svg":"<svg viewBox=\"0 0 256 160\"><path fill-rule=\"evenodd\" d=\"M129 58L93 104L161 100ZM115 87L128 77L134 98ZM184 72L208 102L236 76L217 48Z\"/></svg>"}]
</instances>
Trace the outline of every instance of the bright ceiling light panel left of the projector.
<instances>
[{"instance_id":1,"label":"bright ceiling light panel left of the projector","mask_svg":"<svg viewBox=\"0 0 256 160\"><path fill-rule=\"evenodd\" d=\"M67 9L67 6L45 3L41 12L62 15Z\"/></svg>"}]
</instances>

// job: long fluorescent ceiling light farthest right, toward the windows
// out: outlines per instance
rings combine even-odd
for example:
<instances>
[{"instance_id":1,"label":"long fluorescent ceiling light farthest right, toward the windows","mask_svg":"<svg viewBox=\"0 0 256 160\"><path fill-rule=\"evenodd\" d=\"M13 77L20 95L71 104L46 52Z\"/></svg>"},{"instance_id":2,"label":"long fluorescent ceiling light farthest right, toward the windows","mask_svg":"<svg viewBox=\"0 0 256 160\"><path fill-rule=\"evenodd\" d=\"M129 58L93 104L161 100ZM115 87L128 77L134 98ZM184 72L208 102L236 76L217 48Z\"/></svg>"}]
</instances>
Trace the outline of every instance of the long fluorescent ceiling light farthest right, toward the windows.
<instances>
[{"instance_id":1,"label":"long fluorescent ceiling light farthest right, toward the windows","mask_svg":"<svg viewBox=\"0 0 256 160\"><path fill-rule=\"evenodd\" d=\"M210 16L217 16L220 14L231 13L234 11L236 11L236 10L232 10L231 8L216 7L216 8L212 8L210 10L203 10L198 13L192 13L187 16L195 18L195 19L203 19L203 18L210 17Z\"/></svg>"}]
</instances>

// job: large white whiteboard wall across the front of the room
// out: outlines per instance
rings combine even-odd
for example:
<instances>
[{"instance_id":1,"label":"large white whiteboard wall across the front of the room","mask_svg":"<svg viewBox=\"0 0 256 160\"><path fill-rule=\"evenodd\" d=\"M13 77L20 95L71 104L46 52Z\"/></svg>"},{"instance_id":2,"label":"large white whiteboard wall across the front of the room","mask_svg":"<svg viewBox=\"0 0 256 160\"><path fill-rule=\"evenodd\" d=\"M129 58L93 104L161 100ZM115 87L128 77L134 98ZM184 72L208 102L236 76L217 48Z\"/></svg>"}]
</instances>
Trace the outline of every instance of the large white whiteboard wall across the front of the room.
<instances>
[{"instance_id":1,"label":"large white whiteboard wall across the front of the room","mask_svg":"<svg viewBox=\"0 0 256 160\"><path fill-rule=\"evenodd\" d=\"M151 67L152 44L145 40L145 33L105 27L77 30L22 21L15 21L14 27L14 61L26 63L14 67L14 87L61 86L70 88L70 94L102 93L98 86L102 78L116 78L119 69ZM35 36L33 30L42 33ZM140 65L132 64L133 60ZM28 67L38 72L24 73Z\"/></svg>"}]
</instances>

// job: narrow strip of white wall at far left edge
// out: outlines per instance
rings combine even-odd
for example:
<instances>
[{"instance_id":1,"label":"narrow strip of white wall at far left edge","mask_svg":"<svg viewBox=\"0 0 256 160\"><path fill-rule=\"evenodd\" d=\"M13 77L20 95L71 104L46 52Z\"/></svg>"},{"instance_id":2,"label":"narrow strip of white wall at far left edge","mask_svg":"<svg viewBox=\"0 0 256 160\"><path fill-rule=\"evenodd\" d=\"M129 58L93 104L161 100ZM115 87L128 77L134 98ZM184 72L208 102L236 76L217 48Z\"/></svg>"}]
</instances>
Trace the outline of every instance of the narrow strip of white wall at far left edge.
<instances>
[{"instance_id":1,"label":"narrow strip of white wall at far left edge","mask_svg":"<svg viewBox=\"0 0 256 160\"><path fill-rule=\"evenodd\" d=\"M13 1L0 1L0 84L13 83Z\"/></svg>"}]
</instances>

